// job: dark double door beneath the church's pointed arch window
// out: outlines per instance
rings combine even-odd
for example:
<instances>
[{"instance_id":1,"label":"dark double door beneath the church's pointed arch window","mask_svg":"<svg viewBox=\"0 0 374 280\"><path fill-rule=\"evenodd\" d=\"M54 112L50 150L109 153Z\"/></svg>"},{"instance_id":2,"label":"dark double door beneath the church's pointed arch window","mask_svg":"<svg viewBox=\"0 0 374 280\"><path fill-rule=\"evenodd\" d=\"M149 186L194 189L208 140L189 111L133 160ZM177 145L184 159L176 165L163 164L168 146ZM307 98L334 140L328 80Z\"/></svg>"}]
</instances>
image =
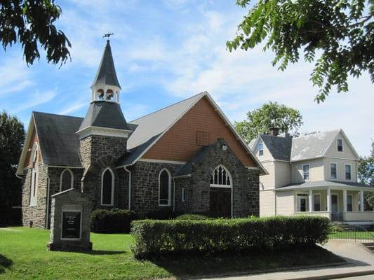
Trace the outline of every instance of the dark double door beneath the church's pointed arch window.
<instances>
[{"instance_id":1,"label":"dark double door beneath the church's pointed arch window","mask_svg":"<svg viewBox=\"0 0 374 280\"><path fill-rule=\"evenodd\" d=\"M217 217L230 218L232 209L232 189L211 187L211 214Z\"/></svg>"}]
</instances>

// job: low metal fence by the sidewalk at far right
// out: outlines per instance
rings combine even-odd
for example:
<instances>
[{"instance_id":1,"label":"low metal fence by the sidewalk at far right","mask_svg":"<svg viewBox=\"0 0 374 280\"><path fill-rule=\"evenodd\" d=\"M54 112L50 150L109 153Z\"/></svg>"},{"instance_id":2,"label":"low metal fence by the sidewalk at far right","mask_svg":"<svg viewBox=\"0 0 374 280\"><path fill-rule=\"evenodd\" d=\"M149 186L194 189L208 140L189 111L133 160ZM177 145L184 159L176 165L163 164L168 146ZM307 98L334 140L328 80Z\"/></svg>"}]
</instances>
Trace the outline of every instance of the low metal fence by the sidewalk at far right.
<instances>
[{"instance_id":1,"label":"low metal fence by the sidewalk at far right","mask_svg":"<svg viewBox=\"0 0 374 280\"><path fill-rule=\"evenodd\" d=\"M374 242L374 231L362 225L333 225L333 232L328 235L330 240L347 240L360 243Z\"/></svg>"}]
</instances>

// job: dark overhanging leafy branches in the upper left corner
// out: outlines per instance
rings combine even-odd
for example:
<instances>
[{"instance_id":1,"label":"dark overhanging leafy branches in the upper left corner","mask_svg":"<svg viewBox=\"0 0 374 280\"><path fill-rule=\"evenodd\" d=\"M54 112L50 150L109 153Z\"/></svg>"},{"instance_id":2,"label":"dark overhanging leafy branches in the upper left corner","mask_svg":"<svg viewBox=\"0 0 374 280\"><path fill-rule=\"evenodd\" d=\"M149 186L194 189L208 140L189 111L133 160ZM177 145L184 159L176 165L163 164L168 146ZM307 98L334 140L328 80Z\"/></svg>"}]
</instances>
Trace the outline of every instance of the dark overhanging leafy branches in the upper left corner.
<instances>
[{"instance_id":1,"label":"dark overhanging leafy branches in the upper left corner","mask_svg":"<svg viewBox=\"0 0 374 280\"><path fill-rule=\"evenodd\" d=\"M46 51L48 62L65 63L71 44L54 23L61 15L54 0L8 0L0 2L0 41L4 50L14 43L22 45L27 64L40 58L39 48Z\"/></svg>"}]
</instances>

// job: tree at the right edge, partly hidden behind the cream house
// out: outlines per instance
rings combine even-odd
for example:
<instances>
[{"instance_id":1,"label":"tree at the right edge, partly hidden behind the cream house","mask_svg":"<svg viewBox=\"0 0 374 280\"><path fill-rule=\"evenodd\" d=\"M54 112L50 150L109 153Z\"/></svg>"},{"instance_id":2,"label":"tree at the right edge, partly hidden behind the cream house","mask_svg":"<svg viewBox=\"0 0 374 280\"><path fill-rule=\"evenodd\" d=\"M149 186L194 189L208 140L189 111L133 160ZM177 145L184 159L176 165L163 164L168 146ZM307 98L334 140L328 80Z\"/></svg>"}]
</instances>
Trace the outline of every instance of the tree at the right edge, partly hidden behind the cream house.
<instances>
[{"instance_id":1,"label":"tree at the right edge, partly hidden behind the cream house","mask_svg":"<svg viewBox=\"0 0 374 280\"><path fill-rule=\"evenodd\" d=\"M371 155L370 157L362 157L359 161L359 181L366 185L374 187L374 141L371 144ZM365 198L370 207L373 210L374 207L374 194L365 193Z\"/></svg>"}]
</instances>

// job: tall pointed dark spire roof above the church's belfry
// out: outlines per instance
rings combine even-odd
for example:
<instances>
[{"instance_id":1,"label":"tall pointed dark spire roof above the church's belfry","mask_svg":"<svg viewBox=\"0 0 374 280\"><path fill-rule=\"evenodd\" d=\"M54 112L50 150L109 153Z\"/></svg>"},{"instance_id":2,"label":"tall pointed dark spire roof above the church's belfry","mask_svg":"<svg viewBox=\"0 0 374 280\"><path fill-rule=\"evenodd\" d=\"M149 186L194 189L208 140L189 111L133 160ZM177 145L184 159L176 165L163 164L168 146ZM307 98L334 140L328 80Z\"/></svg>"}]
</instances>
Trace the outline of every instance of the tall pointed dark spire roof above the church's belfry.
<instances>
[{"instance_id":1,"label":"tall pointed dark spire roof above the church's belfry","mask_svg":"<svg viewBox=\"0 0 374 280\"><path fill-rule=\"evenodd\" d=\"M116 75L116 69L114 69L114 62L112 56L112 50L110 48L109 40L105 45L104 53L102 54L98 73L96 73L95 80L92 85L115 85L121 88ZM91 85L91 86L92 86Z\"/></svg>"}]
</instances>

